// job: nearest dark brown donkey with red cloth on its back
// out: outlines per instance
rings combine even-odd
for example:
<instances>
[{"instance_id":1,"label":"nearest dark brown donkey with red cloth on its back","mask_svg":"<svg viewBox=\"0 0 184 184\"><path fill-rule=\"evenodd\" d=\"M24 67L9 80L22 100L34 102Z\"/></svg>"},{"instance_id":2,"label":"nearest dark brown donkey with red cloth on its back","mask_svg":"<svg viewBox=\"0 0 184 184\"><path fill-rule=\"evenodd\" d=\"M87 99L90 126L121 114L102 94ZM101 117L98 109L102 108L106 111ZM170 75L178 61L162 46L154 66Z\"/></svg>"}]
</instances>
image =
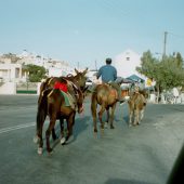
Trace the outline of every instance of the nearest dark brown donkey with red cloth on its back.
<instances>
[{"instance_id":1,"label":"nearest dark brown donkey with red cloth on its back","mask_svg":"<svg viewBox=\"0 0 184 184\"><path fill-rule=\"evenodd\" d=\"M83 110L83 93L75 84L71 84L68 88L69 94L74 97L75 106L66 106L65 96L58 89L48 89L44 90L41 101L38 105L37 111L37 137L38 137L38 154L42 154L43 139L42 130L43 123L49 116L50 123L45 131L47 140L47 150L48 153L52 152L50 146L50 134L54 129L55 121L60 119L61 121L61 134L64 139L64 126L63 120L67 121L67 135L62 143L65 143L69 136L73 134L73 126L75 124L76 110L80 114Z\"/></svg>"}]
</instances>

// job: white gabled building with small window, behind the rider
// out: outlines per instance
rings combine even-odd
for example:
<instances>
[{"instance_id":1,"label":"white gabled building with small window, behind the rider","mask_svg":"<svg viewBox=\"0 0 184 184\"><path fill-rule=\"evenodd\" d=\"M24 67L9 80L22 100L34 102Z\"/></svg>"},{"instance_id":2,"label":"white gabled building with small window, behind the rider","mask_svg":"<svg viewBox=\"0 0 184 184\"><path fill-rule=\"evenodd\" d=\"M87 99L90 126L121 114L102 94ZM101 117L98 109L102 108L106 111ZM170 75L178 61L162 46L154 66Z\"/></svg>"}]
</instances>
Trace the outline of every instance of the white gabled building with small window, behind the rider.
<instances>
[{"instance_id":1,"label":"white gabled building with small window, behind the rider","mask_svg":"<svg viewBox=\"0 0 184 184\"><path fill-rule=\"evenodd\" d=\"M127 78L131 75L136 75L144 79L135 69L141 66L141 55L132 50L126 50L115 56L113 65L117 68L118 77Z\"/></svg>"}]
</instances>

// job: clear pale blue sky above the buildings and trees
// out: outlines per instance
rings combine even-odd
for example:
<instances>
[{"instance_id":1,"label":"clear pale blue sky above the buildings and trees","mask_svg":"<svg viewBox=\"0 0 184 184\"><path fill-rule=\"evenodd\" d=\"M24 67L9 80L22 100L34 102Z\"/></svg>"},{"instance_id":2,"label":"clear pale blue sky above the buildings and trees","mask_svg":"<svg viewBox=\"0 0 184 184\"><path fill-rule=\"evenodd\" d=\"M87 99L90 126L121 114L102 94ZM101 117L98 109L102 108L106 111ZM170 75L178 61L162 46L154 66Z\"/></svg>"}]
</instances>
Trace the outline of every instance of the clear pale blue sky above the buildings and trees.
<instances>
[{"instance_id":1,"label":"clear pale blue sky above the buildings and trees","mask_svg":"<svg viewBox=\"0 0 184 184\"><path fill-rule=\"evenodd\" d=\"M0 54L95 68L127 49L184 57L183 0L0 0ZM157 53L157 54L156 54Z\"/></svg>"}]
</instances>

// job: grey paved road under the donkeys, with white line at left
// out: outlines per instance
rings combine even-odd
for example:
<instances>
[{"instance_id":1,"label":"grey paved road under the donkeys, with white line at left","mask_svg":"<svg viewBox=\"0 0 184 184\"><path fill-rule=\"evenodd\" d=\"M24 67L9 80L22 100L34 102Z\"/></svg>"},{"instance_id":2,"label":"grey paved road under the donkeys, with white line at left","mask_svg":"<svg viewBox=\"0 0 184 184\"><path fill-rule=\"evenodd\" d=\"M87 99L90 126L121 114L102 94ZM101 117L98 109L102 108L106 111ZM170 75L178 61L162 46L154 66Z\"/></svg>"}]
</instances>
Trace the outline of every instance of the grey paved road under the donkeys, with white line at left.
<instances>
[{"instance_id":1,"label":"grey paved road under the donkeys, with white line at left","mask_svg":"<svg viewBox=\"0 0 184 184\"><path fill-rule=\"evenodd\" d=\"M116 129L94 137L87 100L69 144L52 142L54 153L38 156L32 143L37 97L0 95L1 184L166 183L184 141L184 105L148 104L136 128L127 124L127 105L119 106Z\"/></svg>"}]
</instances>

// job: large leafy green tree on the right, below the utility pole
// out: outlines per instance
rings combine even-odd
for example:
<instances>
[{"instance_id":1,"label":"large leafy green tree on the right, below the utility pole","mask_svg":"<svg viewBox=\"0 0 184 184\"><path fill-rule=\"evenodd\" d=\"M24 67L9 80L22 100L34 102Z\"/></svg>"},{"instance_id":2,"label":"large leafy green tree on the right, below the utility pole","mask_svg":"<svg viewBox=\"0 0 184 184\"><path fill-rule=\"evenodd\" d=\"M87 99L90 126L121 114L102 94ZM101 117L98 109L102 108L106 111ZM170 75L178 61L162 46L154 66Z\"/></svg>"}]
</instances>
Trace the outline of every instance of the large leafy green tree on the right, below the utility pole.
<instances>
[{"instance_id":1,"label":"large leafy green tree on the right, below the utility pole","mask_svg":"<svg viewBox=\"0 0 184 184\"><path fill-rule=\"evenodd\" d=\"M173 87L183 86L184 69L182 68L183 60L181 54L176 56L165 56L161 61L153 57L150 51L144 52L141 58L141 67L136 70L148 78L154 78L157 82L156 89L172 89Z\"/></svg>"}]
</instances>

